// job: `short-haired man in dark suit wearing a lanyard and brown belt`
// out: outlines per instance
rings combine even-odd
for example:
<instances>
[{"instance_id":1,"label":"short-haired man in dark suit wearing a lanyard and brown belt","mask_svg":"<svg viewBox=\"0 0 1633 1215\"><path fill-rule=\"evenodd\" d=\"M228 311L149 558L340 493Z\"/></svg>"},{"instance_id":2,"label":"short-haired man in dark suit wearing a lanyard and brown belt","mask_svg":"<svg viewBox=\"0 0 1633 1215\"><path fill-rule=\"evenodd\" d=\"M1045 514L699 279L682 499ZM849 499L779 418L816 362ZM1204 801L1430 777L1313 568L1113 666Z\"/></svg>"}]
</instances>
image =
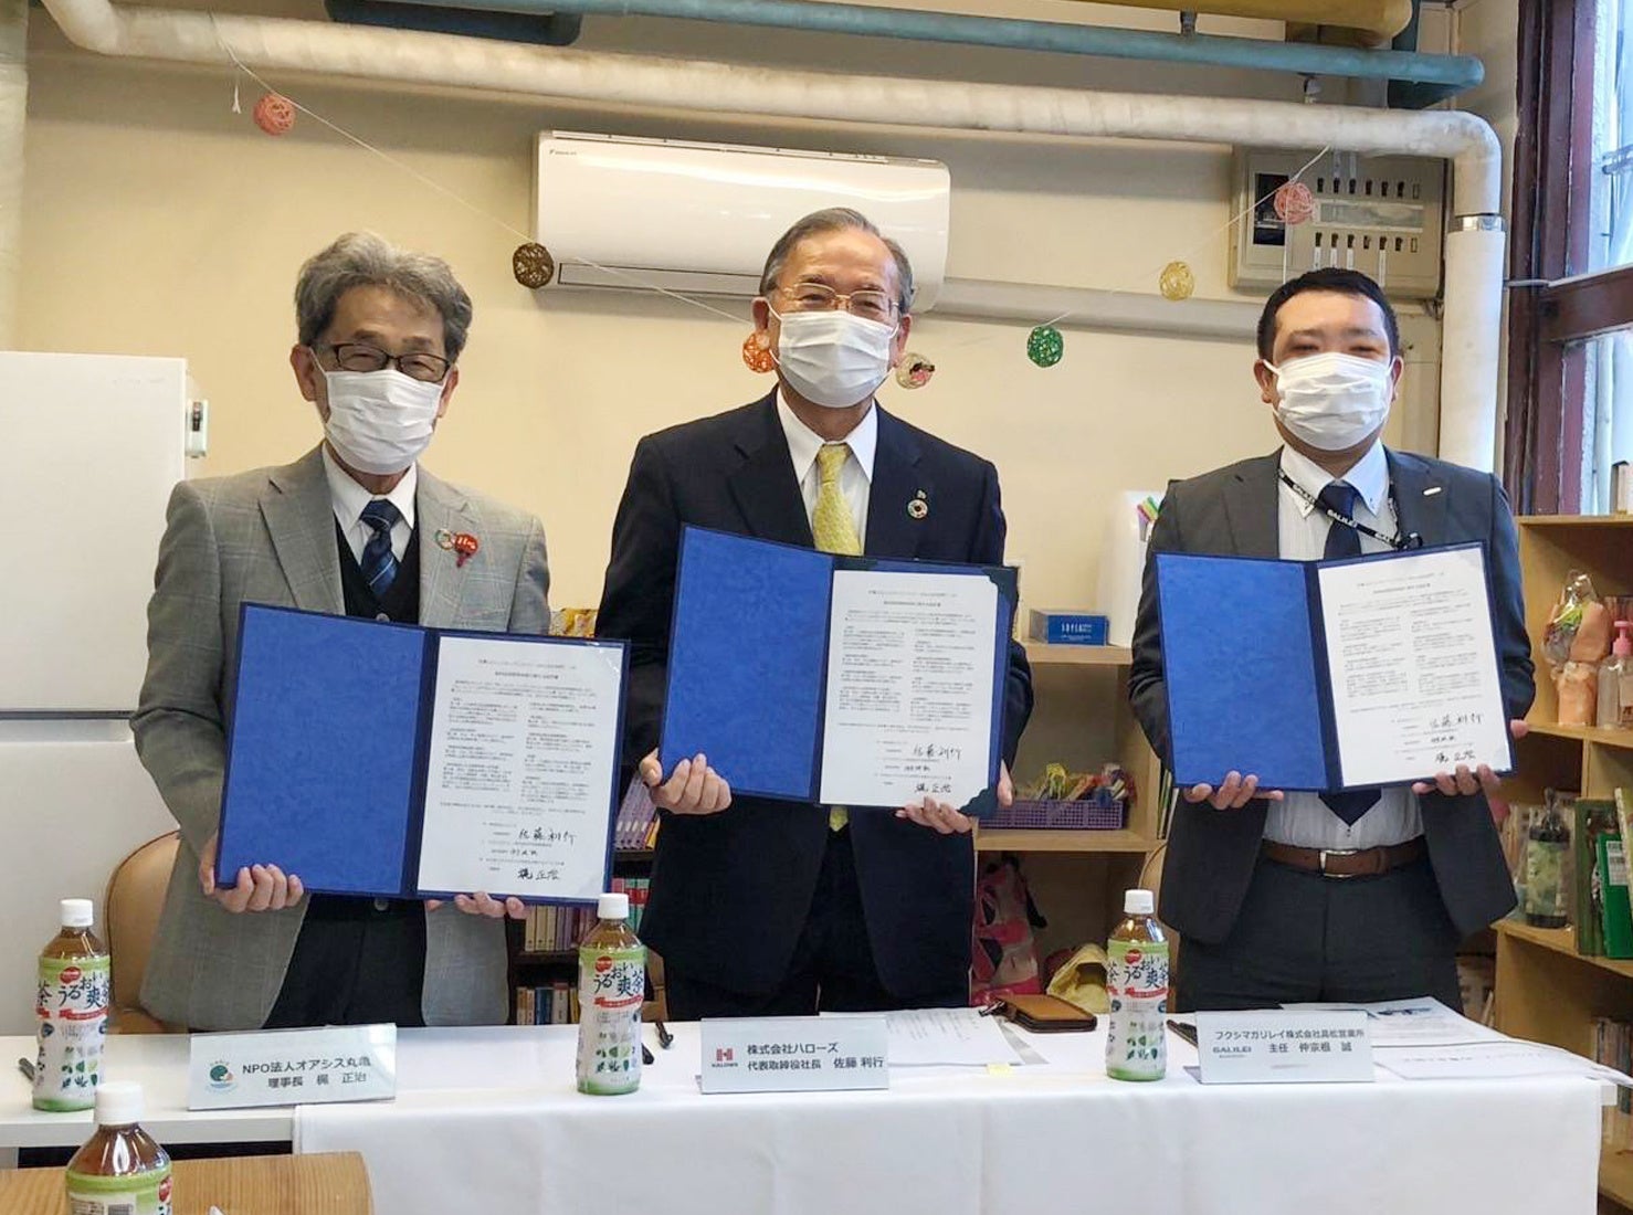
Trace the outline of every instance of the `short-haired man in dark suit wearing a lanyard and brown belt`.
<instances>
[{"instance_id":1,"label":"short-haired man in dark suit wearing a lanyard and brown belt","mask_svg":"<svg viewBox=\"0 0 1633 1215\"><path fill-rule=\"evenodd\" d=\"M1285 446L1171 483L1151 531L1128 679L1151 746L1169 754L1158 552L1313 560L1484 542L1502 694L1524 717L1532 660L1509 503L1489 474L1383 447L1401 377L1383 291L1349 269L1284 284L1259 320L1254 376ZM1161 905L1184 937L1176 1008L1424 995L1458 1008L1458 941L1514 906L1491 771L1411 789L1257 786L1231 771L1182 790Z\"/></svg>"}]
</instances>

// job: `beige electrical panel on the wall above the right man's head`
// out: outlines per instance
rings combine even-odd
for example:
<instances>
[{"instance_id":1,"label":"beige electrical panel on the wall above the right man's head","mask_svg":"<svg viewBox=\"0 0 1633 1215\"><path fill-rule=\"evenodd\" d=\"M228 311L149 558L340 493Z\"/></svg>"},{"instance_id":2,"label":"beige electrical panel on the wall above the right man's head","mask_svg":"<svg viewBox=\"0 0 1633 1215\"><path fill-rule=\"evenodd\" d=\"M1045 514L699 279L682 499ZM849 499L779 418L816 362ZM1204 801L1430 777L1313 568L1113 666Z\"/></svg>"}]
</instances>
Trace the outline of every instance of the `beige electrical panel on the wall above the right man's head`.
<instances>
[{"instance_id":1,"label":"beige electrical panel on the wall above the right man's head","mask_svg":"<svg viewBox=\"0 0 1633 1215\"><path fill-rule=\"evenodd\" d=\"M1230 286L1270 291L1306 269L1346 266L1395 297L1440 294L1445 162L1323 152L1311 163L1315 155L1236 152ZM1282 191L1295 173L1308 196Z\"/></svg>"}]
</instances>

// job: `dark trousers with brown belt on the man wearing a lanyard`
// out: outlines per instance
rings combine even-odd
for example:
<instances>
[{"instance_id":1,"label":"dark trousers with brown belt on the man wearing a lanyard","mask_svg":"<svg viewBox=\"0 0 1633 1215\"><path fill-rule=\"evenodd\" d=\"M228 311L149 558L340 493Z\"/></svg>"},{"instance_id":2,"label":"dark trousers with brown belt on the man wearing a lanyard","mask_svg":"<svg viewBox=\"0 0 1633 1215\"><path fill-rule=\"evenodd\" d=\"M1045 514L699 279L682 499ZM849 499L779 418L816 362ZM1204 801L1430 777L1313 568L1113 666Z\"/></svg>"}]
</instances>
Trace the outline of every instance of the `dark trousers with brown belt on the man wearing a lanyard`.
<instances>
[{"instance_id":1,"label":"dark trousers with brown belt on the man wearing a lanyard","mask_svg":"<svg viewBox=\"0 0 1633 1215\"><path fill-rule=\"evenodd\" d=\"M1427 859L1334 879L1261 857L1230 936L1181 941L1174 1008L1435 996L1462 1011L1458 942Z\"/></svg>"}]
</instances>

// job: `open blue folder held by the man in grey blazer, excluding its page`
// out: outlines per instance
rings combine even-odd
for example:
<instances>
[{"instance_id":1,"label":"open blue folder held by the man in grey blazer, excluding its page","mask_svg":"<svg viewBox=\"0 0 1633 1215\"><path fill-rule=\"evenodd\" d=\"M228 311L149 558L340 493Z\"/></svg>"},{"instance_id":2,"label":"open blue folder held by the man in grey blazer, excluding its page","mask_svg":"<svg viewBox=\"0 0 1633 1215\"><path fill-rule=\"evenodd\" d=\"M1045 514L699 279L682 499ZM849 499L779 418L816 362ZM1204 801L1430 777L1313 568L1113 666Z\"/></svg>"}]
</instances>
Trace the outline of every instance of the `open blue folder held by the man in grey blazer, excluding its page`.
<instances>
[{"instance_id":1,"label":"open blue folder held by the man in grey blazer, excluding its page","mask_svg":"<svg viewBox=\"0 0 1633 1215\"><path fill-rule=\"evenodd\" d=\"M622 642L469 634L243 604L217 883L232 885L245 866L276 864L299 874L302 885L317 893L470 893L416 887L443 637L596 645L616 650L627 671ZM622 715L619 704L617 730L606 740L614 750ZM604 880L612 872L616 795L614 779L607 789ZM509 892L488 893L503 898Z\"/></svg>"}]
</instances>

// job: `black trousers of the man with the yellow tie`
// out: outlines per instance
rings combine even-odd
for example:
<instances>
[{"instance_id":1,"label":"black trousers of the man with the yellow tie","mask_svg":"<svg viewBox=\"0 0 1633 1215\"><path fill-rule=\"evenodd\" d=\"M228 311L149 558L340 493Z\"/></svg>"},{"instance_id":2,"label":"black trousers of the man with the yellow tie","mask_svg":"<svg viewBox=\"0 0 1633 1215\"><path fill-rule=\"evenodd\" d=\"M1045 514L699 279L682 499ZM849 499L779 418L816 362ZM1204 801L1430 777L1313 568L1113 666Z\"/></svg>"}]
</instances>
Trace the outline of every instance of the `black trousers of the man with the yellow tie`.
<instances>
[{"instance_id":1,"label":"black trousers of the man with the yellow tie","mask_svg":"<svg viewBox=\"0 0 1633 1215\"><path fill-rule=\"evenodd\" d=\"M885 988L867 941L862 892L856 882L851 830L828 833L812 910L800 931L794 959L771 991L733 991L699 983L665 965L670 1016L674 1021L704 1017L797 1017L815 1012L877 1012L893 1008L962 1008L968 986L901 998Z\"/></svg>"}]
</instances>

